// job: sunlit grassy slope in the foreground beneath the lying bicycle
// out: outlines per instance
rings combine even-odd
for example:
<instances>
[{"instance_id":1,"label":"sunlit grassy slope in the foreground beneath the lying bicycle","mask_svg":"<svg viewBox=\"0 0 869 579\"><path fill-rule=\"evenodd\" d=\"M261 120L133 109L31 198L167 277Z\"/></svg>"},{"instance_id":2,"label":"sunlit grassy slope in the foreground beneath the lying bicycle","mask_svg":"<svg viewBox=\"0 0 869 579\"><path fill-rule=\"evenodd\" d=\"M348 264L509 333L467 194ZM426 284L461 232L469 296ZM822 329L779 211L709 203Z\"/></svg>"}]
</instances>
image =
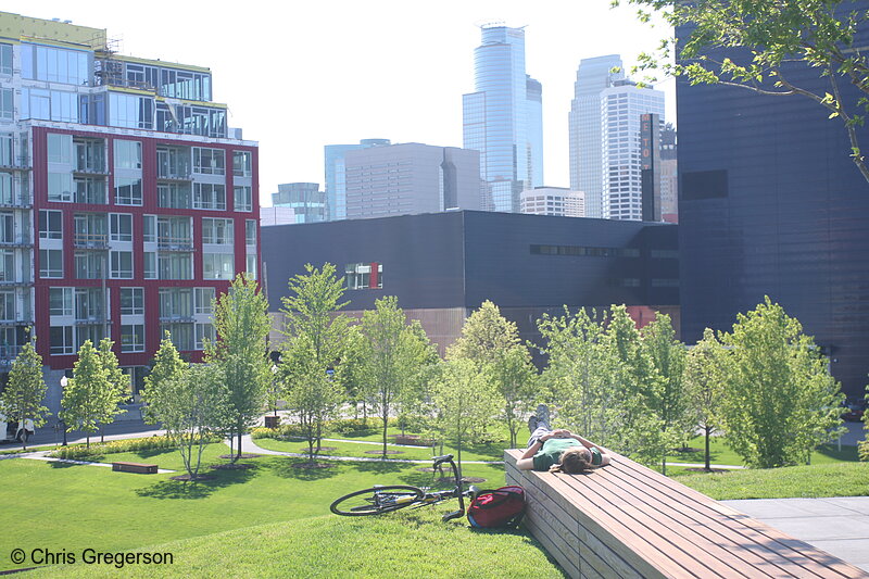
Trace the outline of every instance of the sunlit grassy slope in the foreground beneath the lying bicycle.
<instances>
[{"instance_id":1,"label":"sunlit grassy slope in the foreground beneath the lying bicycle","mask_svg":"<svg viewBox=\"0 0 869 579\"><path fill-rule=\"evenodd\" d=\"M563 572L528 537L440 521L429 507L379 517L333 515L198 537L141 550L173 565L70 565L25 577L539 577Z\"/></svg>"}]
</instances>

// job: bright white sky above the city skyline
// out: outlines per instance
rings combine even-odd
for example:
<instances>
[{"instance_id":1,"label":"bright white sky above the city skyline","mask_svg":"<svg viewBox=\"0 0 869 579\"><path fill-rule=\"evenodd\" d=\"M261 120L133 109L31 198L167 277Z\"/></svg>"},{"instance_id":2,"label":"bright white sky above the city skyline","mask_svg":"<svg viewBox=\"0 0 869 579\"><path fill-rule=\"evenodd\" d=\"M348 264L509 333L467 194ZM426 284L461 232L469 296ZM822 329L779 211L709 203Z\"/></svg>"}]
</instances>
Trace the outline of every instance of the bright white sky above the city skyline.
<instances>
[{"instance_id":1,"label":"bright white sky above the city skyline","mask_svg":"<svg viewBox=\"0 0 869 579\"><path fill-rule=\"evenodd\" d=\"M462 147L478 26L526 26L527 73L543 85L545 184L568 187L567 113L584 58L626 66L667 34L609 0L8 0L0 10L106 28L119 52L207 66L229 126L260 143L260 197L323 187L323 147L366 138ZM671 80L667 119L675 122Z\"/></svg>"}]
</instances>

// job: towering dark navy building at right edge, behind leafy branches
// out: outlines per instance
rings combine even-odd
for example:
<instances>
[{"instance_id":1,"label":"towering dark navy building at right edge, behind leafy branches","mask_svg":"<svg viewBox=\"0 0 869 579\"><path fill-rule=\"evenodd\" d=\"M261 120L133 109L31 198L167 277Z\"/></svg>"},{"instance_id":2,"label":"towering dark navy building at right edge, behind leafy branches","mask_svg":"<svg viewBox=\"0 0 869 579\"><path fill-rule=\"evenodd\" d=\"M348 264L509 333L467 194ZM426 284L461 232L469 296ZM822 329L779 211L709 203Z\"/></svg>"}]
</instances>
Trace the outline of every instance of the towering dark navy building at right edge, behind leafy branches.
<instances>
[{"instance_id":1,"label":"towering dark navy building at right edge, behind leafy branches","mask_svg":"<svg viewBox=\"0 0 869 579\"><path fill-rule=\"evenodd\" d=\"M855 10L867 10L861 0ZM684 30L677 30L685 38ZM861 26L854 46L866 46ZM709 58L731 55L717 50ZM735 55L733 54L735 60ZM823 93L829 80L796 62L783 76ZM842 98L864 95L841 83ZM869 186L840 119L802 97L773 98L677 81L682 331L728 330L769 295L830 354L846 394L869 373ZM866 131L862 131L866 136Z\"/></svg>"}]
</instances>

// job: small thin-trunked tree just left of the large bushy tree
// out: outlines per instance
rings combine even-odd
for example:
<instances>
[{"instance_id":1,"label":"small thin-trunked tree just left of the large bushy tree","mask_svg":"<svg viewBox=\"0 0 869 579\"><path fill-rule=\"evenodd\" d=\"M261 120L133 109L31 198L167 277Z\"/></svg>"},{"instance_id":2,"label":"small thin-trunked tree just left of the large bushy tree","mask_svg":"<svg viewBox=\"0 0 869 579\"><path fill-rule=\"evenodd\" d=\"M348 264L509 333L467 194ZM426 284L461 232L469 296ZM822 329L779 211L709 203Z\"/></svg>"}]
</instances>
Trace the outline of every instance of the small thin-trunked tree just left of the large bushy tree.
<instances>
[{"instance_id":1,"label":"small thin-trunked tree just left of the large bushy tree","mask_svg":"<svg viewBox=\"0 0 869 579\"><path fill-rule=\"evenodd\" d=\"M684 367L685 398L694 423L703 429L705 438L705 468L711 470L709 437L719 428L719 408L723 395L721 365L725 351L709 328L703 330L703 339L688 352Z\"/></svg>"}]
</instances>

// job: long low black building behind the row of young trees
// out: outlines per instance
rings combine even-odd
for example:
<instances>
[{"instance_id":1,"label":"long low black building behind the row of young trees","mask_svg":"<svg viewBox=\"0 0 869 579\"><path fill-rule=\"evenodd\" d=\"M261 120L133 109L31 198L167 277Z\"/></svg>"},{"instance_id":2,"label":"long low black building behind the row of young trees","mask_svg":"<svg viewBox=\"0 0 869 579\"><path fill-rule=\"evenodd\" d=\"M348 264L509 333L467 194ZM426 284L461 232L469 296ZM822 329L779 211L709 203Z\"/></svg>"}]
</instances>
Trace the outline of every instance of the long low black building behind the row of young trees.
<instances>
[{"instance_id":1,"label":"long low black building behind the row of young trees","mask_svg":"<svg viewBox=\"0 0 869 579\"><path fill-rule=\"evenodd\" d=\"M536 341L537 319L564 305L625 303L641 324L679 316L677 226L456 211L262 229L269 310L306 263L348 279L345 311L395 295L441 347L486 300ZM357 288L357 289L354 289Z\"/></svg>"}]
</instances>

